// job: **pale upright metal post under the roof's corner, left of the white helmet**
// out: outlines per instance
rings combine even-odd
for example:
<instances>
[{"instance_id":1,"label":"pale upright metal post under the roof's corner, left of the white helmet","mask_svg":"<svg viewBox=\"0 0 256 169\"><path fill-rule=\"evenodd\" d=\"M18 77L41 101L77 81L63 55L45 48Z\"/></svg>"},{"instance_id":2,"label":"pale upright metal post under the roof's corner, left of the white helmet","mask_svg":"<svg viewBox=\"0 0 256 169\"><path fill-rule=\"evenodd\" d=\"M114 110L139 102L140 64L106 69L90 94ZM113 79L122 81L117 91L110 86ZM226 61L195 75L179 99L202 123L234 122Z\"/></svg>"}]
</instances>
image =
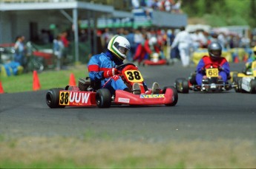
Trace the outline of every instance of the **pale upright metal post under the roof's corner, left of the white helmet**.
<instances>
[{"instance_id":1,"label":"pale upright metal post under the roof's corner, left of the white helmet","mask_svg":"<svg viewBox=\"0 0 256 169\"><path fill-rule=\"evenodd\" d=\"M73 9L73 33L75 44L75 61L79 63L79 39L78 39L78 23L77 23L77 9Z\"/></svg>"}]
</instances>

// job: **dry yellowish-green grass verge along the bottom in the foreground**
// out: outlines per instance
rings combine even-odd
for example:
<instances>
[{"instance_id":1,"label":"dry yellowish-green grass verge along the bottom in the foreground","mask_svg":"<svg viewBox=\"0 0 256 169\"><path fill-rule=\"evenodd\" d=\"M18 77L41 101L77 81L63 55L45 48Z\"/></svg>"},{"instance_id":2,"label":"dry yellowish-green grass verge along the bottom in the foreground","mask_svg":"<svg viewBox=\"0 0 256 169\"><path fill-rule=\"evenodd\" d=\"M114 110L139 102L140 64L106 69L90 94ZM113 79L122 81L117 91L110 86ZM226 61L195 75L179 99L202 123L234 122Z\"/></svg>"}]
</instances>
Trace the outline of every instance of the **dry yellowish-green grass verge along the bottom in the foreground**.
<instances>
[{"instance_id":1,"label":"dry yellowish-green grass verge along the bottom in the foreground","mask_svg":"<svg viewBox=\"0 0 256 169\"><path fill-rule=\"evenodd\" d=\"M255 143L23 137L0 142L0 168L255 168Z\"/></svg>"}]
</instances>

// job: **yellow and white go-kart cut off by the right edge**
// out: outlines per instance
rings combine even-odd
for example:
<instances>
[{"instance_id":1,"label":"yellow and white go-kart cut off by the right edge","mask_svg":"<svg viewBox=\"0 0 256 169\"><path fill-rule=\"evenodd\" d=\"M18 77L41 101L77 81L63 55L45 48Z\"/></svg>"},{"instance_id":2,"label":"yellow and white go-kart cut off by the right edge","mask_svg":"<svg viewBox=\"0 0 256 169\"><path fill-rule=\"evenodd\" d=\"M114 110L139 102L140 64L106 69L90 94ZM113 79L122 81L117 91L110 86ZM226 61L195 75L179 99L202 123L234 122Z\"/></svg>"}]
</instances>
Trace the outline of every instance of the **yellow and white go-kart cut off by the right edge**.
<instances>
[{"instance_id":1,"label":"yellow and white go-kart cut off by the right edge","mask_svg":"<svg viewBox=\"0 0 256 169\"><path fill-rule=\"evenodd\" d=\"M256 61L252 62L251 71L230 72L231 81L236 86L235 92L256 93Z\"/></svg>"}]
</instances>

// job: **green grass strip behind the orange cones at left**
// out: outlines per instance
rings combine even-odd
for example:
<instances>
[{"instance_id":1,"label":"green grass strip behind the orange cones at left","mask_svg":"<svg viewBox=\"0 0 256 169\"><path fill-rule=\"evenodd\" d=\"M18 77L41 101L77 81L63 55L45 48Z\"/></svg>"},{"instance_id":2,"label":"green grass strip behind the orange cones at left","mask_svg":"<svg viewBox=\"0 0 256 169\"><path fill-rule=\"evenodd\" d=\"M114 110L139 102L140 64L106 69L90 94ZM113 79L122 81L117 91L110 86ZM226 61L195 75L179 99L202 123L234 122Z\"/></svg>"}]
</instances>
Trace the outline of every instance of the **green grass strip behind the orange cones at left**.
<instances>
[{"instance_id":1,"label":"green grass strip behind the orange cones at left","mask_svg":"<svg viewBox=\"0 0 256 169\"><path fill-rule=\"evenodd\" d=\"M41 86L40 89L65 88L69 84L71 73L76 79L76 85L78 85L80 77L88 76L88 70L85 65L75 66L62 71L46 70L37 74ZM0 77L4 93L33 91L33 72L9 77L3 77L0 74Z\"/></svg>"}]
</instances>

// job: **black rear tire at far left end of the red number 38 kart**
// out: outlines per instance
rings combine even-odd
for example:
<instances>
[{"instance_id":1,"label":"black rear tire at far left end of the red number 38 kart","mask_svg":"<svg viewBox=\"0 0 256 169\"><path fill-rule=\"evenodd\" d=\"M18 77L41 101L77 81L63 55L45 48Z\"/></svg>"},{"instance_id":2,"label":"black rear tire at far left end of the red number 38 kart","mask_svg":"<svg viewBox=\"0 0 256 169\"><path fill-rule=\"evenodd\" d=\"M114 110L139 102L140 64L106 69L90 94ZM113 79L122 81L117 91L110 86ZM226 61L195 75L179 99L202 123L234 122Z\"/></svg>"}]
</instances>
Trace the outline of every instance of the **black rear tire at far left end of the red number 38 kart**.
<instances>
[{"instance_id":1,"label":"black rear tire at far left end of the red number 38 kart","mask_svg":"<svg viewBox=\"0 0 256 169\"><path fill-rule=\"evenodd\" d=\"M54 88L48 90L46 93L46 104L50 108L65 108L65 106L59 105L59 91L63 90L62 88Z\"/></svg>"}]
</instances>

